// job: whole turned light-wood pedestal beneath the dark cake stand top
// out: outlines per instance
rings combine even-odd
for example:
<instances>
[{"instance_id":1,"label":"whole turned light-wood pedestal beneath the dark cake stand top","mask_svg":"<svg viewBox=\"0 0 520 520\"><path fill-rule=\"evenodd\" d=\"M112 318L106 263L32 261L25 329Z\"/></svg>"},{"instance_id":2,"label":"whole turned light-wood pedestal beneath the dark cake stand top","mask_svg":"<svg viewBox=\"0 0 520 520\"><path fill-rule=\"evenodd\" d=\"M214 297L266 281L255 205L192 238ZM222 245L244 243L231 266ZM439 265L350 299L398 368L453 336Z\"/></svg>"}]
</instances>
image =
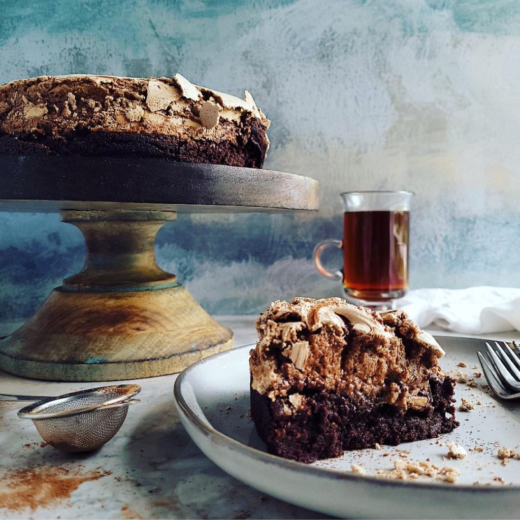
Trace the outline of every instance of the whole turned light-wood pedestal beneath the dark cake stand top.
<instances>
[{"instance_id":1,"label":"whole turned light-wood pedestal beneath the dark cake stand top","mask_svg":"<svg viewBox=\"0 0 520 520\"><path fill-rule=\"evenodd\" d=\"M114 381L179 372L233 346L231 330L155 264L168 212L63 212L87 261L0 342L0 368L27 378Z\"/></svg>"}]
</instances>

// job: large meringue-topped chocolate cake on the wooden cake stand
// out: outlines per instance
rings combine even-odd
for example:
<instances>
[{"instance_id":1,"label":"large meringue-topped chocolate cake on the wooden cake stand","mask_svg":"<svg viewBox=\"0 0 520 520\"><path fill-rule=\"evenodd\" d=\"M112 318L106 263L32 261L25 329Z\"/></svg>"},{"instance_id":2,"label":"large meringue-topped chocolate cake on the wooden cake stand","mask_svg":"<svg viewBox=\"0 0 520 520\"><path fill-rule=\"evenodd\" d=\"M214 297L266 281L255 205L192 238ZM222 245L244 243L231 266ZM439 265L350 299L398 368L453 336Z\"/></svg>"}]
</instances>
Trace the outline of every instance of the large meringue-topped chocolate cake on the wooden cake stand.
<instances>
[{"instance_id":1,"label":"large meringue-topped chocolate cake on the wooden cake stand","mask_svg":"<svg viewBox=\"0 0 520 520\"><path fill-rule=\"evenodd\" d=\"M145 157L261 168L269 120L173 78L41 76L0 85L0 153Z\"/></svg>"}]
</instances>

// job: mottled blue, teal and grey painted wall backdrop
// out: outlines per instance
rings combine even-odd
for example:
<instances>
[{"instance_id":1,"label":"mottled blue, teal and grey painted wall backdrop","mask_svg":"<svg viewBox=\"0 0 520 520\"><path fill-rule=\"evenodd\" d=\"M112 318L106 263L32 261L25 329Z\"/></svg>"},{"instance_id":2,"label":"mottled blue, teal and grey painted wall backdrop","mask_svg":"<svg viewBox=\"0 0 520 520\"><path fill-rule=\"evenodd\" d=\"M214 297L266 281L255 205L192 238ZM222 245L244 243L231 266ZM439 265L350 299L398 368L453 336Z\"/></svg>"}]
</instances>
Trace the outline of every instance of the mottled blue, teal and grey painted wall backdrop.
<instances>
[{"instance_id":1,"label":"mottled blue, teal and grey painted wall backdrop","mask_svg":"<svg viewBox=\"0 0 520 520\"><path fill-rule=\"evenodd\" d=\"M320 180L319 214L161 230L160 265L217 314L341 294L310 255L340 237L337 193L354 189L417 192L412 287L520 285L519 56L516 0L0 2L0 82L180 72L246 88L272 120L266 167ZM30 316L83 261L58 215L0 213L0 321Z\"/></svg>"}]
</instances>

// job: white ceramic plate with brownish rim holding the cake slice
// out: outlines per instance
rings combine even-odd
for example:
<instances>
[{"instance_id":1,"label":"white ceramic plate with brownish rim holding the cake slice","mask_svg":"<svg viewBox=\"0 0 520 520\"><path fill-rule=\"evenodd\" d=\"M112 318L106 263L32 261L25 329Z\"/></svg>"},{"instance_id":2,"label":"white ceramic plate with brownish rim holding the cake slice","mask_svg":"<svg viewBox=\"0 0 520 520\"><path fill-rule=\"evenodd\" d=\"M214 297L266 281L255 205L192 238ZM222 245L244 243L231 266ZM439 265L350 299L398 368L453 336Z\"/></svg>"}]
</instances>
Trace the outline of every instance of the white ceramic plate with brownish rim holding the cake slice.
<instances>
[{"instance_id":1,"label":"white ceramic plate with brownish rim holding the cake slice","mask_svg":"<svg viewBox=\"0 0 520 520\"><path fill-rule=\"evenodd\" d=\"M447 352L445 370L470 374L480 369L476 351L481 340L437 337ZM503 466L497 458L501 446L520 447L520 409L500 402L478 386L457 385L456 397L475 403L471 412L457 412L461 425L435 440L423 440L345 452L338 459L303 464L266 452L249 418L250 346L199 361L175 382L175 400L181 421L199 448L230 475L272 496L341 517L380 518L518 518L520 515L520 460ZM465 361L467 368L458 368ZM477 405L476 402L482 404ZM458 402L459 404L459 402ZM464 460L443 460L446 443L465 447ZM470 448L481 446L484 451ZM405 453L402 450L407 450ZM389 453L390 456L385 456ZM393 460L406 454L410 461L430 459L439 467L456 466L457 484L428 477L392 480L376 477L377 469L391 470ZM365 476L350 471L361 464ZM475 484L477 483L478 484Z\"/></svg>"}]
</instances>

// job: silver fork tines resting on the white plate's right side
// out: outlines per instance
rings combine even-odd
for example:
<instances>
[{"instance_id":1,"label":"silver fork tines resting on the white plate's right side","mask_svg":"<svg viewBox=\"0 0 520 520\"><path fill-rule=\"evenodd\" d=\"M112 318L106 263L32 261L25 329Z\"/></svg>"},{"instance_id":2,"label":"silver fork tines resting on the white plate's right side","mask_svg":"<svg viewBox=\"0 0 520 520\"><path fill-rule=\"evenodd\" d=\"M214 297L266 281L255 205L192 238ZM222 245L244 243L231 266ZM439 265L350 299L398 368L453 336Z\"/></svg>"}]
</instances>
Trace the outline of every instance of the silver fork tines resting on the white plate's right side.
<instances>
[{"instance_id":1,"label":"silver fork tines resting on the white plate's right side","mask_svg":"<svg viewBox=\"0 0 520 520\"><path fill-rule=\"evenodd\" d=\"M495 342L496 349L486 342L486 358L478 352L480 366L489 387L501 399L520 398L520 353L513 342L514 350L504 341L503 347ZM488 362L489 361L489 362Z\"/></svg>"}]
</instances>

